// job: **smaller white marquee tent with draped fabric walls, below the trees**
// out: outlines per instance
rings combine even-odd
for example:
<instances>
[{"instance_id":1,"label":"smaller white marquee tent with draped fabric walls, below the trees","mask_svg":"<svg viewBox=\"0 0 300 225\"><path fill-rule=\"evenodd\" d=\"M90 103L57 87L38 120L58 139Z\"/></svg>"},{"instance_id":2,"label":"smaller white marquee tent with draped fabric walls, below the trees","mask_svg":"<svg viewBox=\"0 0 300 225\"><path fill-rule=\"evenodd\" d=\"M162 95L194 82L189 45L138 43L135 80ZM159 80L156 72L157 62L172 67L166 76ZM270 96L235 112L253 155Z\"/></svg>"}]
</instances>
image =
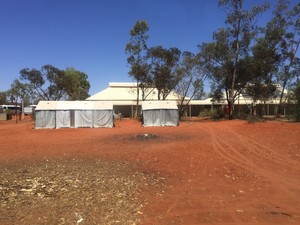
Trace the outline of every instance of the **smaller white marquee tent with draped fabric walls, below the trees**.
<instances>
[{"instance_id":1,"label":"smaller white marquee tent with draped fabric walls, below the trees","mask_svg":"<svg viewBox=\"0 0 300 225\"><path fill-rule=\"evenodd\" d=\"M143 126L178 126L179 115L175 101L142 102Z\"/></svg>"}]
</instances>

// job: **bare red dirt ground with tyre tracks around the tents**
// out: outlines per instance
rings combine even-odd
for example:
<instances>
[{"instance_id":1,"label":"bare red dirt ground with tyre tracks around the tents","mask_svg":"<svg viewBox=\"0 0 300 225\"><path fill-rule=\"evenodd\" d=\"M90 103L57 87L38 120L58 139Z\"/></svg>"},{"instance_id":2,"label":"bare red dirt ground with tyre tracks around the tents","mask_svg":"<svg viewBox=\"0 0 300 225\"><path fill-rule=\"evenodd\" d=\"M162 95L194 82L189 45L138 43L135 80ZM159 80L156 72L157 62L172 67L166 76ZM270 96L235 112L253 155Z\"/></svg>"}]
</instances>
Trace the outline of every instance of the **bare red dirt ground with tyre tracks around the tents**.
<instances>
[{"instance_id":1,"label":"bare red dirt ground with tyre tracks around the tents","mask_svg":"<svg viewBox=\"0 0 300 225\"><path fill-rule=\"evenodd\" d=\"M145 193L143 224L300 224L300 124L145 128L124 119L112 129L35 130L29 120L0 122L0 162L82 156L132 161L166 178L163 194Z\"/></svg>"}]
</instances>

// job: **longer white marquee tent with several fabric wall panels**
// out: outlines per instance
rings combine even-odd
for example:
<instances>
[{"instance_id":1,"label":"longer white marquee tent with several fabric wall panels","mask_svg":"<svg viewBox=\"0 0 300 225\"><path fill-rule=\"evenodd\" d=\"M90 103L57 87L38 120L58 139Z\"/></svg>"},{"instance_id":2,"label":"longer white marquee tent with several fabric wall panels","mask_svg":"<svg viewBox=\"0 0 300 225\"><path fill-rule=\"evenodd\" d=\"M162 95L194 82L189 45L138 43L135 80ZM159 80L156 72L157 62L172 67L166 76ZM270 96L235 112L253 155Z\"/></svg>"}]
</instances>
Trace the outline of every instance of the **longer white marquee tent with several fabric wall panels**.
<instances>
[{"instance_id":1,"label":"longer white marquee tent with several fabric wall panels","mask_svg":"<svg viewBox=\"0 0 300 225\"><path fill-rule=\"evenodd\" d=\"M36 128L113 127L113 105L100 101L40 101Z\"/></svg>"}]
</instances>

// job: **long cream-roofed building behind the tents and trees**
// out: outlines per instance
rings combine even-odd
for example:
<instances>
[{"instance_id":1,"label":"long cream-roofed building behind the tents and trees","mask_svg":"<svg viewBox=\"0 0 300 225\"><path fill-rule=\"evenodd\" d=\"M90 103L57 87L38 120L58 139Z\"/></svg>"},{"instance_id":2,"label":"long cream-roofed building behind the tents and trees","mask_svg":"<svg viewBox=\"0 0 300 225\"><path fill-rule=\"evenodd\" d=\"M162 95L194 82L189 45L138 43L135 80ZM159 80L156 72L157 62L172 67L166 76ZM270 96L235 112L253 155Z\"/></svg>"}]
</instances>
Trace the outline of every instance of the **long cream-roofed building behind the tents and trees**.
<instances>
[{"instance_id":1,"label":"long cream-roofed building behind the tents and trees","mask_svg":"<svg viewBox=\"0 0 300 225\"><path fill-rule=\"evenodd\" d=\"M155 88L149 88L147 90L147 95L145 101L155 101L157 98L157 90ZM225 96L225 94L224 94ZM177 105L180 104L181 95L172 91L168 97L167 101L175 101ZM87 98L89 101L107 101L113 104L113 110L115 114L121 113L123 117L134 117L137 107L137 86L136 83L122 83L122 82L111 82L108 88L100 91L99 93L92 95ZM226 108L227 101L225 97L221 101L214 101L212 98L207 98L205 100L190 100L186 97L187 105L187 116L199 116L200 112L203 110L212 110L215 108ZM141 113L142 105L142 94L139 92L139 103L138 111ZM282 106L280 109L280 114L287 115L290 110L287 103L286 106ZM279 99L268 99L268 100L258 100L253 101L250 96L240 94L235 100L235 112L249 113L253 110L253 105L256 107L257 113L261 115L275 115L277 113L277 107L279 106Z\"/></svg>"}]
</instances>

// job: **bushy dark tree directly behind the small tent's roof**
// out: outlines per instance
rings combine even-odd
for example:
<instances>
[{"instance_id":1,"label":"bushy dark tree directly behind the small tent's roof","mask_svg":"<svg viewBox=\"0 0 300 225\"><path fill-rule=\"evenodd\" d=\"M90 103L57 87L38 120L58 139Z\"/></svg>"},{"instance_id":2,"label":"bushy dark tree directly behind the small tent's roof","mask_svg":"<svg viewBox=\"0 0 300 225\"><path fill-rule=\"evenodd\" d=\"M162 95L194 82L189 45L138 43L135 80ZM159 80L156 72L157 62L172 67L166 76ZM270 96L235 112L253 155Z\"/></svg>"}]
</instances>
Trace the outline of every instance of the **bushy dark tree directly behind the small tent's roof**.
<instances>
[{"instance_id":1,"label":"bushy dark tree directly behind the small tent's roof","mask_svg":"<svg viewBox=\"0 0 300 225\"><path fill-rule=\"evenodd\" d=\"M151 60L151 75L157 89L158 100L165 100L180 80L179 60L181 52L177 48L165 49L162 46L148 50Z\"/></svg>"}]
</instances>

